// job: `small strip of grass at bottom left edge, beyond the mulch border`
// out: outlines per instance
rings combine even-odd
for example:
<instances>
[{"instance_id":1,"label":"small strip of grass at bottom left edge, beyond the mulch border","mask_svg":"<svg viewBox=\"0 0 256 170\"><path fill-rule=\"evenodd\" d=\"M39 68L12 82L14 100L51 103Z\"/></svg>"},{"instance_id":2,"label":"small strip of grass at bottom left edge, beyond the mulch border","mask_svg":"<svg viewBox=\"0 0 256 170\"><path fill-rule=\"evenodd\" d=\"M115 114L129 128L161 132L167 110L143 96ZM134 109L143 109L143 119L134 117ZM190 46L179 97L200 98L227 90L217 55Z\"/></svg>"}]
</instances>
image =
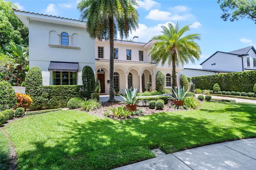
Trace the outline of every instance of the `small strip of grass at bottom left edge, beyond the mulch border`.
<instances>
[{"instance_id":1,"label":"small strip of grass at bottom left edge, beyond the mulch border","mask_svg":"<svg viewBox=\"0 0 256 170\"><path fill-rule=\"evenodd\" d=\"M9 167L10 142L3 130L0 129L0 170L7 170Z\"/></svg>"}]
</instances>

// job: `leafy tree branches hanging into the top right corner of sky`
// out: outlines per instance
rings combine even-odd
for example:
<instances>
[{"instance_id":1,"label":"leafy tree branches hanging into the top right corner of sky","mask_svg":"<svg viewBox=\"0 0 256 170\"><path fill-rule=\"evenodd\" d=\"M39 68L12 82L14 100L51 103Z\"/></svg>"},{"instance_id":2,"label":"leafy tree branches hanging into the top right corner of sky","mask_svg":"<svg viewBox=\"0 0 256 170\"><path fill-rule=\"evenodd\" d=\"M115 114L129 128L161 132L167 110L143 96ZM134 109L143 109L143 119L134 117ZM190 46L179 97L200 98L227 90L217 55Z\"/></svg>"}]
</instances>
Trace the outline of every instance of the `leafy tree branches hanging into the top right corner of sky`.
<instances>
[{"instance_id":1,"label":"leafy tree branches hanging into the top right corner of sky","mask_svg":"<svg viewBox=\"0 0 256 170\"><path fill-rule=\"evenodd\" d=\"M220 9L224 12L220 18L227 21L248 18L256 24L256 0L218 0Z\"/></svg>"}]
</instances>

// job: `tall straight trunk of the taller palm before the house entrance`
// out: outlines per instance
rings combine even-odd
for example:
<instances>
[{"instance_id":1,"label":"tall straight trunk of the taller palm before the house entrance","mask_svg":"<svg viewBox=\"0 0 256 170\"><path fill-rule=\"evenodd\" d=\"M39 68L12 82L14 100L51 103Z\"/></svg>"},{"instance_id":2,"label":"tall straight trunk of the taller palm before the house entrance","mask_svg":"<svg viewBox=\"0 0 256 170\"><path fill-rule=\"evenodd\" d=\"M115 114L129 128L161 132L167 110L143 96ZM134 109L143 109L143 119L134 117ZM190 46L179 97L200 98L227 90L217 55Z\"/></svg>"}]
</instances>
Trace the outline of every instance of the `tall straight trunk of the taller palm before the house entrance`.
<instances>
[{"instance_id":1,"label":"tall straight trunk of the taller palm before the house entrance","mask_svg":"<svg viewBox=\"0 0 256 170\"><path fill-rule=\"evenodd\" d=\"M109 43L110 43L110 59L109 59L109 100L114 102L114 20L109 18Z\"/></svg>"}]
</instances>

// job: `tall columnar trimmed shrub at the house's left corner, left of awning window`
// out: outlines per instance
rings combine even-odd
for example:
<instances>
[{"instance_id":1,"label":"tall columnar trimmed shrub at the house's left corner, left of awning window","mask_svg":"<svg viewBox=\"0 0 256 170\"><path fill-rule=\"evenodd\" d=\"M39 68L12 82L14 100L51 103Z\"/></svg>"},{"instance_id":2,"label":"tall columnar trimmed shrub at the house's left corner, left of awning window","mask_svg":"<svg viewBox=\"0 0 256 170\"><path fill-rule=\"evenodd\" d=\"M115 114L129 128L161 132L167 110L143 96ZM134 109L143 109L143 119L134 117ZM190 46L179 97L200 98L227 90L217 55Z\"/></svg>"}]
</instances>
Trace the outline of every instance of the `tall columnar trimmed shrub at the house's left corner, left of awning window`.
<instances>
[{"instance_id":1,"label":"tall columnar trimmed shrub at the house's left corner, left of awning window","mask_svg":"<svg viewBox=\"0 0 256 170\"><path fill-rule=\"evenodd\" d=\"M38 110L41 109L41 96L39 87L43 85L42 71L40 67L31 67L25 77L25 92L30 95L33 100L30 109ZM58 93L61 94L61 93Z\"/></svg>"}]
</instances>

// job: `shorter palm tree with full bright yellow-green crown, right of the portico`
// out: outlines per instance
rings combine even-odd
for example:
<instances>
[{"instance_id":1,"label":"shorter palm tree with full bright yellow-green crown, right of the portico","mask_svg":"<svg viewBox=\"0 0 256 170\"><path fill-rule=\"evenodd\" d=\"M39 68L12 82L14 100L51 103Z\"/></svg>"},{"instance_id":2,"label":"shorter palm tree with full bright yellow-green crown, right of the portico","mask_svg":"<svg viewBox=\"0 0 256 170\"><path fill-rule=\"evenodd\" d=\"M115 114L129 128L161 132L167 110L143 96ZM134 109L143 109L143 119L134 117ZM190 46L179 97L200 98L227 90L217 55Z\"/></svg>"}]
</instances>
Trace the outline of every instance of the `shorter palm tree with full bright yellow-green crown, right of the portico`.
<instances>
[{"instance_id":1,"label":"shorter palm tree with full bright yellow-green crown, right of the portico","mask_svg":"<svg viewBox=\"0 0 256 170\"><path fill-rule=\"evenodd\" d=\"M157 64L166 63L170 66L172 63L172 87L175 87L176 82L176 65L178 63L188 63L191 61L195 63L195 59L199 59L201 55L201 49L198 43L194 40L200 40L200 34L188 34L189 26L184 26L180 29L180 24L177 22L176 26L169 24L168 27L161 26L163 31L162 35L155 36L153 40L156 40L150 47L149 55L151 55L151 61Z\"/></svg>"}]
</instances>

